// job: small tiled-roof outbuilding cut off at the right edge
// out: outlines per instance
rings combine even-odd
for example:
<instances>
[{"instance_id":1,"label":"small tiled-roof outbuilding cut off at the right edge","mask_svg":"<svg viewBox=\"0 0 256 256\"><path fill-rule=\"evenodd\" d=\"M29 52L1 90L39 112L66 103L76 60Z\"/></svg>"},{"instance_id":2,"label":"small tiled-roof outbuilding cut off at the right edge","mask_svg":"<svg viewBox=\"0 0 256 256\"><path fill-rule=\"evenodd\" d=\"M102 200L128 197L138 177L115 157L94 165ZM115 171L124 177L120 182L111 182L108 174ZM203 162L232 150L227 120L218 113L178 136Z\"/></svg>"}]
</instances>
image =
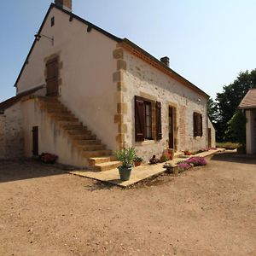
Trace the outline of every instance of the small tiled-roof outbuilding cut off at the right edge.
<instances>
[{"instance_id":1,"label":"small tiled-roof outbuilding cut off at the right edge","mask_svg":"<svg viewBox=\"0 0 256 256\"><path fill-rule=\"evenodd\" d=\"M256 89L247 91L238 108L245 111L247 118L247 154L256 154Z\"/></svg>"}]
</instances>

